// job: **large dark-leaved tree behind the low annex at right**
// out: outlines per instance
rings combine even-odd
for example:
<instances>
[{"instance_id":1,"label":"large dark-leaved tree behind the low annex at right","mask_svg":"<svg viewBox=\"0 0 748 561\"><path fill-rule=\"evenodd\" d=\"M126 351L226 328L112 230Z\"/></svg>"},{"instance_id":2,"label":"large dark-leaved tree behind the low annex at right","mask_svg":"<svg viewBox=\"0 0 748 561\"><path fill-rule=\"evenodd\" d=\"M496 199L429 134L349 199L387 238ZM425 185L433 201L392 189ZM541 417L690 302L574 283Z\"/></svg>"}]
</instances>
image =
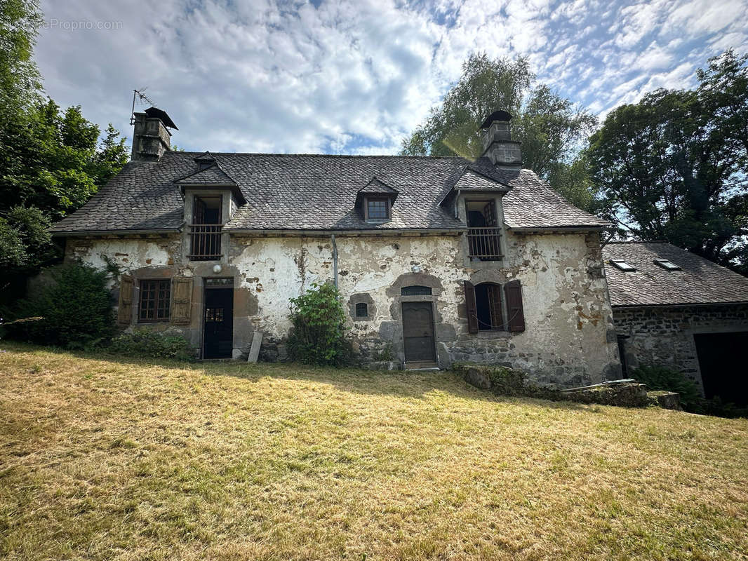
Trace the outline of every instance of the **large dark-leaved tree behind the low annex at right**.
<instances>
[{"instance_id":1,"label":"large dark-leaved tree behind the low annex at right","mask_svg":"<svg viewBox=\"0 0 748 561\"><path fill-rule=\"evenodd\" d=\"M747 60L732 51L712 58L695 90L649 93L616 108L592 135L592 180L623 236L745 263Z\"/></svg>"}]
</instances>

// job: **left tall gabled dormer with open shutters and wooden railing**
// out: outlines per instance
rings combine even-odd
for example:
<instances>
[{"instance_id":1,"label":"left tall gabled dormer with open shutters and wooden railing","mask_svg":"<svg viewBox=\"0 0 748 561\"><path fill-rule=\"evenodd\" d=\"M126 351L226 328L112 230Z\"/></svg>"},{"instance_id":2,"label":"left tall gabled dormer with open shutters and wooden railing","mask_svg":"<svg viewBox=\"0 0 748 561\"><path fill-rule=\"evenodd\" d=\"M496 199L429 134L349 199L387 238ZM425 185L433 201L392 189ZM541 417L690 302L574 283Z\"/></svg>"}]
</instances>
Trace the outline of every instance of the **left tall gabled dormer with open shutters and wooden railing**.
<instances>
[{"instance_id":1,"label":"left tall gabled dormer with open shutters and wooden railing","mask_svg":"<svg viewBox=\"0 0 748 561\"><path fill-rule=\"evenodd\" d=\"M185 201L185 223L189 236L186 257L195 261L221 260L225 247L223 227L247 200L236 181L209 152L194 158L195 169L174 183Z\"/></svg>"}]
</instances>

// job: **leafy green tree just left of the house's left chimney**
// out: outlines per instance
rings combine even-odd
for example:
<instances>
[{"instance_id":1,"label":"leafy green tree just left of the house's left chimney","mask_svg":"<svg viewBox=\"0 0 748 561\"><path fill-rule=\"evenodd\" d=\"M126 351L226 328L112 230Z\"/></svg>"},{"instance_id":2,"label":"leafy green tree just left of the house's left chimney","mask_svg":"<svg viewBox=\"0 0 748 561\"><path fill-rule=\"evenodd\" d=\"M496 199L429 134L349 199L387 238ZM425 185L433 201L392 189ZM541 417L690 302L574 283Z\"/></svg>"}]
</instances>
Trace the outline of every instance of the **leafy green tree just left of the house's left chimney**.
<instances>
[{"instance_id":1,"label":"leafy green tree just left of the house's left chimney","mask_svg":"<svg viewBox=\"0 0 748 561\"><path fill-rule=\"evenodd\" d=\"M17 115L0 127L0 230L16 248L0 259L0 286L52 259L52 221L82 206L128 159L119 132L110 125L99 143L99 127L80 107L61 112L49 99Z\"/></svg>"}]
</instances>

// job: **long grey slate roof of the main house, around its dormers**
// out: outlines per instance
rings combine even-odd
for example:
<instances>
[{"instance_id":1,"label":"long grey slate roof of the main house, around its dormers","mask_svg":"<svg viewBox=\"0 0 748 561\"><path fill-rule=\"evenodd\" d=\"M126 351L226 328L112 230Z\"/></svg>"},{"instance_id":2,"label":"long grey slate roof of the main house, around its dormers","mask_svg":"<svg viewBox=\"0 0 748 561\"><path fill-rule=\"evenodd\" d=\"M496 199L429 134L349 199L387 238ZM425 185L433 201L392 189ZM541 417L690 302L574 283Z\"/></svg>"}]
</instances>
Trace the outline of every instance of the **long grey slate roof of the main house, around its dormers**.
<instances>
[{"instance_id":1,"label":"long grey slate roof of the main house, around its dormers","mask_svg":"<svg viewBox=\"0 0 748 561\"><path fill-rule=\"evenodd\" d=\"M54 224L53 233L179 229L183 198L174 181L194 174L194 159L201 154L205 153L170 151L159 162L129 162L81 209ZM478 178L485 176L488 183L494 180L509 187L503 199L509 227L607 224L571 206L532 171L496 168L485 158L470 162L426 156L210 156L218 164L210 174L224 172L248 201L237 209L227 230L463 230L465 225L453 217L452 209L439 203L465 168L477 172ZM398 191L392 219L382 224L365 222L355 209L358 191L373 177ZM472 177L469 174L471 182L482 182Z\"/></svg>"}]
</instances>

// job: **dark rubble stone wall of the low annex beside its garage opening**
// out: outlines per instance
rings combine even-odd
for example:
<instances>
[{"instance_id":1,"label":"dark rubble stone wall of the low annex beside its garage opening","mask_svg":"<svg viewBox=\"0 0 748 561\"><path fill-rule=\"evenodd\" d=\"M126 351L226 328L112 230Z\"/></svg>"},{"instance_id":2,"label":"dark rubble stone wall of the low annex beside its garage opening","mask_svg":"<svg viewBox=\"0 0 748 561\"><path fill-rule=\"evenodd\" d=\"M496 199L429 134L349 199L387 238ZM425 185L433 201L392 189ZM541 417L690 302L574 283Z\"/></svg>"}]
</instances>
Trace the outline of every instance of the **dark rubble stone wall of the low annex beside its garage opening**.
<instances>
[{"instance_id":1,"label":"dark rubble stone wall of the low annex beside its garage opening","mask_svg":"<svg viewBox=\"0 0 748 561\"><path fill-rule=\"evenodd\" d=\"M637 307L613 310L616 333L625 337L626 363L663 366L702 387L694 334L748 330L748 305Z\"/></svg>"}]
</instances>

